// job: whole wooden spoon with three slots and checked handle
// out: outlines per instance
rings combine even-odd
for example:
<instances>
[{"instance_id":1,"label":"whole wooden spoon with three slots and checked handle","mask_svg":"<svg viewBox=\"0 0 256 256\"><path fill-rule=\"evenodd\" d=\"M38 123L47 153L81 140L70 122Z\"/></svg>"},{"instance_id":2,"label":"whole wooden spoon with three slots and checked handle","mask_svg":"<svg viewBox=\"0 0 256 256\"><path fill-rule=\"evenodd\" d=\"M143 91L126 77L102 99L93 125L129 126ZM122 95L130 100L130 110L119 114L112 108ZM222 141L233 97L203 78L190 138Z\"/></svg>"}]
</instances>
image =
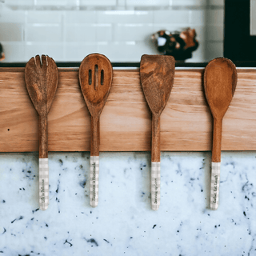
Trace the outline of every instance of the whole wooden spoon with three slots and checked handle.
<instances>
[{"instance_id":1,"label":"whole wooden spoon with three slots and checked handle","mask_svg":"<svg viewBox=\"0 0 256 256\"><path fill-rule=\"evenodd\" d=\"M90 54L79 68L83 97L90 112L90 206L98 206L99 118L112 84L111 62L102 54Z\"/></svg>"}]
</instances>

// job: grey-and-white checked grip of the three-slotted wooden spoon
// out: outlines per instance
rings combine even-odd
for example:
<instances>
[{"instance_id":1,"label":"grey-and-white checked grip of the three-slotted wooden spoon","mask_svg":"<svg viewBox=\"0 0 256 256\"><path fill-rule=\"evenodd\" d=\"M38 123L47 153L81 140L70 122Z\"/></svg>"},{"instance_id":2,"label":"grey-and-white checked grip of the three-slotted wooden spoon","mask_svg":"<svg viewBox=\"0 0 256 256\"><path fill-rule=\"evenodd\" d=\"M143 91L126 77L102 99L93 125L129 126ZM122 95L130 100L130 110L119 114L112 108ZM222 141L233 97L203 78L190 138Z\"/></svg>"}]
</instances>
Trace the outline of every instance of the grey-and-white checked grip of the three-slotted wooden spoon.
<instances>
[{"instance_id":1,"label":"grey-and-white checked grip of the three-slotted wooden spoon","mask_svg":"<svg viewBox=\"0 0 256 256\"><path fill-rule=\"evenodd\" d=\"M90 156L90 206L98 206L99 156Z\"/></svg>"}]
</instances>

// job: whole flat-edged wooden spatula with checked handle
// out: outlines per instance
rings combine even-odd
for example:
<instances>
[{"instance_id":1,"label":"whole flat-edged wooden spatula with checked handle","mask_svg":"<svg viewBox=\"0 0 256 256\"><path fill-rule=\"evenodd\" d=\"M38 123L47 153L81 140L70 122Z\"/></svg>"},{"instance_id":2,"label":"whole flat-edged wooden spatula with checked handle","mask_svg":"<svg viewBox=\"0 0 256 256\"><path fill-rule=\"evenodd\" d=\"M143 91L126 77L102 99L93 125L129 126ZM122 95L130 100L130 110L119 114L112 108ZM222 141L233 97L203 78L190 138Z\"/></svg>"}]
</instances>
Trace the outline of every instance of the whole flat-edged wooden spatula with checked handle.
<instances>
[{"instance_id":1,"label":"whole flat-edged wooden spatula with checked handle","mask_svg":"<svg viewBox=\"0 0 256 256\"><path fill-rule=\"evenodd\" d=\"M174 84L175 60L172 56L142 55L142 89L152 112L151 208L160 206L160 115Z\"/></svg>"}]
</instances>

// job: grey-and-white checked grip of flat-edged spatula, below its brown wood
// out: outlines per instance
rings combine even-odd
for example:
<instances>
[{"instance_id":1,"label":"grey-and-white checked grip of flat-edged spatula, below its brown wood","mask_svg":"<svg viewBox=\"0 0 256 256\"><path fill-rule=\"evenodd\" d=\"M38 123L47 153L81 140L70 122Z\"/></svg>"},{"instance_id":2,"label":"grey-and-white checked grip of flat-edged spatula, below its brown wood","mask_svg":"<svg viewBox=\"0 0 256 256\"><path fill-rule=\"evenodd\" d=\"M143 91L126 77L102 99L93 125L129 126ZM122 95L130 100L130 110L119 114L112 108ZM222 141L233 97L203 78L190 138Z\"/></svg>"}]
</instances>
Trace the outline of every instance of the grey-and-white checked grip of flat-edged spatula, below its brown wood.
<instances>
[{"instance_id":1,"label":"grey-and-white checked grip of flat-edged spatula, below its brown wood","mask_svg":"<svg viewBox=\"0 0 256 256\"><path fill-rule=\"evenodd\" d=\"M160 206L160 162L151 162L151 208Z\"/></svg>"}]
</instances>

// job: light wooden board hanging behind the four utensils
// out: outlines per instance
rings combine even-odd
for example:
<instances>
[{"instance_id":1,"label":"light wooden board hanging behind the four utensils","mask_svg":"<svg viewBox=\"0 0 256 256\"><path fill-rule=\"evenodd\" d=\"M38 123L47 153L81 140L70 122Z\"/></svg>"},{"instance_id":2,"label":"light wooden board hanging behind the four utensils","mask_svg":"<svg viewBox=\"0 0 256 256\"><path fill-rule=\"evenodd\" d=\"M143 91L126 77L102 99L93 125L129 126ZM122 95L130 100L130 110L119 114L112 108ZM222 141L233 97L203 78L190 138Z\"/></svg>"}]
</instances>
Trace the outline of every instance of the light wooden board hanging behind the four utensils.
<instances>
[{"instance_id":1,"label":"light wooden board hanging behind the four utensils","mask_svg":"<svg viewBox=\"0 0 256 256\"><path fill-rule=\"evenodd\" d=\"M176 70L161 115L162 151L211 150L212 118L203 92L204 69ZM238 85L223 120L222 150L256 150L256 70L238 69ZM90 114L78 69L59 68L48 115L49 151L89 151ZM101 114L100 151L150 150L151 116L139 70L114 70ZM0 68L0 152L38 151L38 114L26 91L24 68Z\"/></svg>"}]
</instances>

